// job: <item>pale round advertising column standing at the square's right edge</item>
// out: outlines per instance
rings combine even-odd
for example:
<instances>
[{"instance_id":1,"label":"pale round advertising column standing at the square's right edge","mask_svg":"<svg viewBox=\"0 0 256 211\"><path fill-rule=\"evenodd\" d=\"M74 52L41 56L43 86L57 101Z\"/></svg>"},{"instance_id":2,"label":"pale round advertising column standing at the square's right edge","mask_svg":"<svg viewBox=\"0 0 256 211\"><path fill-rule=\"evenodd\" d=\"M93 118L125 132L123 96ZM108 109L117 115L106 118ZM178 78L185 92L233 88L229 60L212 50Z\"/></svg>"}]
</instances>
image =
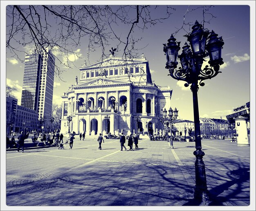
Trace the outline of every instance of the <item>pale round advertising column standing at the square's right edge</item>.
<instances>
[{"instance_id":1,"label":"pale round advertising column standing at the square's right edge","mask_svg":"<svg viewBox=\"0 0 256 211\"><path fill-rule=\"evenodd\" d=\"M234 120L236 124L236 127L235 127L236 133L238 134L237 145L249 145L247 125L246 125L247 118L238 116L238 118Z\"/></svg>"}]
</instances>

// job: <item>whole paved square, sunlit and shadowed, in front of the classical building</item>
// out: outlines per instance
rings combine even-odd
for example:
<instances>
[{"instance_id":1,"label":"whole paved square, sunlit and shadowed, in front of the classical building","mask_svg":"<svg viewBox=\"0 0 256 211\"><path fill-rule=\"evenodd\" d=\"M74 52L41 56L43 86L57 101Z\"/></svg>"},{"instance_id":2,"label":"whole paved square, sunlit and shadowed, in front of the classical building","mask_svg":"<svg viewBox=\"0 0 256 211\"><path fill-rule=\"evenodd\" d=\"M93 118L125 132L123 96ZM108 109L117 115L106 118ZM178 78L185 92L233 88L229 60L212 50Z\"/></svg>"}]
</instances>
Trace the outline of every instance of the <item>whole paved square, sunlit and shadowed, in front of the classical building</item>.
<instances>
[{"instance_id":1,"label":"whole paved square, sunlit and shadowed, in front of the classical building","mask_svg":"<svg viewBox=\"0 0 256 211\"><path fill-rule=\"evenodd\" d=\"M75 139L64 145L7 153L8 206L194 206L194 142L139 140L139 149L120 151L119 140ZM127 145L127 141L126 141ZM134 146L135 148L135 146ZM129 149L129 147L127 147ZM249 146L202 140L207 205L248 206Z\"/></svg>"}]
</instances>

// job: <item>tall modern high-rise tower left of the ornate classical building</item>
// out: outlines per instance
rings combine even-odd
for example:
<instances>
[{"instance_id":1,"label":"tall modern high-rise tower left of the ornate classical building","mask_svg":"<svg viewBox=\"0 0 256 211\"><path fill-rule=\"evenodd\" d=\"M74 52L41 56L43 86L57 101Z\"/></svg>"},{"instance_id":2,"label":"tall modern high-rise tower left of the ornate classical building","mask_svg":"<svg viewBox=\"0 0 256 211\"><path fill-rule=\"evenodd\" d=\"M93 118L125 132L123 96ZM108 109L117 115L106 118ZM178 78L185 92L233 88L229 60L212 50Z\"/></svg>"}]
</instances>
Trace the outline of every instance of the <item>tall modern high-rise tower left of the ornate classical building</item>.
<instances>
[{"instance_id":1,"label":"tall modern high-rise tower left of the ornate classical building","mask_svg":"<svg viewBox=\"0 0 256 211\"><path fill-rule=\"evenodd\" d=\"M52 115L55 57L51 51L31 50L25 56L21 106L38 112L45 123Z\"/></svg>"}]
</instances>

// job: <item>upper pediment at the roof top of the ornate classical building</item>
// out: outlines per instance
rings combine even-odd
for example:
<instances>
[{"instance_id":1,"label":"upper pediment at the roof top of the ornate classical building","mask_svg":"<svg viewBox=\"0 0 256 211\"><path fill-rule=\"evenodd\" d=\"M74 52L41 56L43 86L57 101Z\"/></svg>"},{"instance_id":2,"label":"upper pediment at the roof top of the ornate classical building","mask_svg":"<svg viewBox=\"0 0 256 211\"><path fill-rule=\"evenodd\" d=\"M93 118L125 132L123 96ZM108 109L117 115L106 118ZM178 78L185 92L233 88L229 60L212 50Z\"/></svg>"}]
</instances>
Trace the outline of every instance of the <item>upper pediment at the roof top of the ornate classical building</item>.
<instances>
[{"instance_id":1,"label":"upper pediment at the roof top of the ornate classical building","mask_svg":"<svg viewBox=\"0 0 256 211\"><path fill-rule=\"evenodd\" d=\"M113 67L113 66L125 66L125 65L133 65L133 64L139 64L139 63L145 63L147 62L144 58L143 59L123 59L121 57L108 57L107 59L104 59L101 62L95 62L90 65L84 65L79 70L90 70L95 68L107 68L107 67Z\"/></svg>"}]
</instances>

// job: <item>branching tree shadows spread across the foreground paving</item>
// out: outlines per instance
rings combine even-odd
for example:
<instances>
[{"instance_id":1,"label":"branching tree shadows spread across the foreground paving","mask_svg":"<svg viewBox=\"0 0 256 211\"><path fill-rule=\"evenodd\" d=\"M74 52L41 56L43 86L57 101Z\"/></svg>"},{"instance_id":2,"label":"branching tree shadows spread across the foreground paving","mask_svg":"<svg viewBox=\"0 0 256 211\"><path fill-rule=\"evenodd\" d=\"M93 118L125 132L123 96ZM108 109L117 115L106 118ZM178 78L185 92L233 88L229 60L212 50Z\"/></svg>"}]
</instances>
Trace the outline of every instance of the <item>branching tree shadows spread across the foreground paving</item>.
<instances>
[{"instance_id":1,"label":"branching tree shadows spread across the foreground paving","mask_svg":"<svg viewBox=\"0 0 256 211\"><path fill-rule=\"evenodd\" d=\"M20 200L30 202L23 194L44 193L48 198L42 199L41 203L47 202L49 205L55 205L58 199L63 198L74 198L77 203L83 201L90 206L98 205L101 199L105 200L106 206L134 206L136 203L137 206L204 205L193 199L193 160L188 160L186 167L178 163L163 162L161 159L159 161L158 156L136 162L109 162L107 165L100 161L88 165L86 162L88 161L81 160L81 167L77 165L75 170L68 171L67 167L60 165L58 172L64 173L57 176L31 179L32 182L29 180L27 183L24 180L9 182L7 186L14 185L8 188L7 204L17 205L12 201L17 196L22 196ZM8 173L15 175L15 170ZM249 164L243 164L239 158L212 157L207 163L206 173L207 182L211 185L211 202L206 205L224 206L231 201L234 202L233 205L239 202L249 204ZM240 196L240 193L245 195ZM74 206L76 203L67 202L65 205Z\"/></svg>"}]
</instances>

